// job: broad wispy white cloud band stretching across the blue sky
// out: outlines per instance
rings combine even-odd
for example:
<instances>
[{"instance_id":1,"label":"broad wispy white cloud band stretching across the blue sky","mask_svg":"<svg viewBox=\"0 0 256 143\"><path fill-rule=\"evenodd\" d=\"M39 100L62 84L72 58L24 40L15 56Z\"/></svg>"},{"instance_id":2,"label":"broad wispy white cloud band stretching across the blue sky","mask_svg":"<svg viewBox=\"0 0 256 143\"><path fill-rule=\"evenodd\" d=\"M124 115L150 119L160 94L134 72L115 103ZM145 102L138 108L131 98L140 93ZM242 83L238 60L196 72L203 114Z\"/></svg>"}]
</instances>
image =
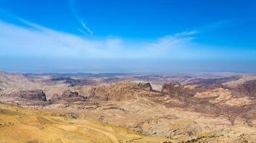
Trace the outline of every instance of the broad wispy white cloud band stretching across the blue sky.
<instances>
[{"instance_id":1,"label":"broad wispy white cloud band stretching across the blue sky","mask_svg":"<svg viewBox=\"0 0 256 143\"><path fill-rule=\"evenodd\" d=\"M230 47L196 43L194 39L196 34L201 32L200 30L182 31L150 41L127 41L122 38L97 39L93 36L88 39L34 24L13 14L10 16L16 22L0 19L0 56L71 59L207 59L244 58L253 57L244 55L255 54L255 51L243 49L230 51L232 49Z\"/></svg>"}]
</instances>

